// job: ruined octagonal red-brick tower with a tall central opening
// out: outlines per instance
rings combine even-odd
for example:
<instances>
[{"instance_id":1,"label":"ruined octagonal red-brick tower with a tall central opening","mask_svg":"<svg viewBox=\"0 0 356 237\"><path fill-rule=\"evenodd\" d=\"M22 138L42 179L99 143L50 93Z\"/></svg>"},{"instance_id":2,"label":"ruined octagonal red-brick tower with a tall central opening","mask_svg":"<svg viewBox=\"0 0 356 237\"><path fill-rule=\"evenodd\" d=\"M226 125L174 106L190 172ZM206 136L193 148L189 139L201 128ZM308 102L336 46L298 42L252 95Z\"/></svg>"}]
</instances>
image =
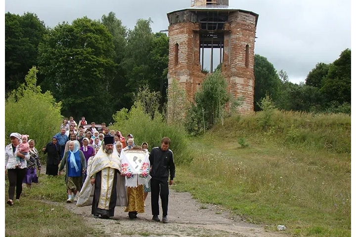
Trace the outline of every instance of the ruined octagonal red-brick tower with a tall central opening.
<instances>
[{"instance_id":1,"label":"ruined octagonal red-brick tower with a tall central opening","mask_svg":"<svg viewBox=\"0 0 356 237\"><path fill-rule=\"evenodd\" d=\"M215 65L221 63L228 91L235 97L245 97L240 112L252 112L258 14L229 7L228 0L191 0L191 7L169 12L167 16L168 91L176 79L185 89L186 99L193 101L194 93L206 77L202 72L205 52L205 57L210 54L210 72L214 70L213 60ZM218 56L214 57L213 53Z\"/></svg>"}]
</instances>

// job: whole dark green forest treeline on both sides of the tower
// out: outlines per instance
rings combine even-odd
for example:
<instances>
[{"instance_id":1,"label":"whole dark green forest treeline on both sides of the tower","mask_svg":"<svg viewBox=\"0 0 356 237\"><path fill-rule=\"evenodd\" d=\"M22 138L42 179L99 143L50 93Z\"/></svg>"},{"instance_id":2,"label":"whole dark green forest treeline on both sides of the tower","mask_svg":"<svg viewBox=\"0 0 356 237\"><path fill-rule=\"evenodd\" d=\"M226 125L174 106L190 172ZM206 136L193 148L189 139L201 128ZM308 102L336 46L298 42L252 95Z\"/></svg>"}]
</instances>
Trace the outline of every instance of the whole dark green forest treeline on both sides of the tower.
<instances>
[{"instance_id":1,"label":"whole dark green forest treeline on both sides of the tower","mask_svg":"<svg viewBox=\"0 0 356 237\"><path fill-rule=\"evenodd\" d=\"M117 111L133 106L134 94L146 85L158 93L164 110L169 39L152 32L152 23L138 19L128 29L110 12L100 20L82 17L50 28L35 13L5 13L5 98L36 66L35 86L61 102L64 117L111 122ZM256 111L266 94L280 110L350 114L351 49L333 63L316 64L301 84L256 54Z\"/></svg>"}]
</instances>

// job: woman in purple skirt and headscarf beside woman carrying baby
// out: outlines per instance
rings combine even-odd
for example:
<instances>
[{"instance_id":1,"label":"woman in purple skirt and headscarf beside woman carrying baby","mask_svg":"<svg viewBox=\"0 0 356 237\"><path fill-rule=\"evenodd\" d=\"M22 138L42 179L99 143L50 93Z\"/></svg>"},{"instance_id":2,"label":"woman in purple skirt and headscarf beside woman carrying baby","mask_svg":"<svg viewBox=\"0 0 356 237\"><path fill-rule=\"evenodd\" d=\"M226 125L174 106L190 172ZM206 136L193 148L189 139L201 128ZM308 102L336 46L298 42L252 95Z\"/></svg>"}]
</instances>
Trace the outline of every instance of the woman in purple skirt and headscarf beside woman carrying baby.
<instances>
[{"instance_id":1,"label":"woman in purple skirt and headscarf beside woman carrying baby","mask_svg":"<svg viewBox=\"0 0 356 237\"><path fill-rule=\"evenodd\" d=\"M28 143L30 146L30 152L29 152L30 159L27 160L27 170L26 170L26 175L23 179L23 183L26 184L27 188L31 188L32 182L38 183L36 165L39 169L39 172L41 172L41 162L39 158L39 153L35 148L35 141L30 139Z\"/></svg>"}]
</instances>

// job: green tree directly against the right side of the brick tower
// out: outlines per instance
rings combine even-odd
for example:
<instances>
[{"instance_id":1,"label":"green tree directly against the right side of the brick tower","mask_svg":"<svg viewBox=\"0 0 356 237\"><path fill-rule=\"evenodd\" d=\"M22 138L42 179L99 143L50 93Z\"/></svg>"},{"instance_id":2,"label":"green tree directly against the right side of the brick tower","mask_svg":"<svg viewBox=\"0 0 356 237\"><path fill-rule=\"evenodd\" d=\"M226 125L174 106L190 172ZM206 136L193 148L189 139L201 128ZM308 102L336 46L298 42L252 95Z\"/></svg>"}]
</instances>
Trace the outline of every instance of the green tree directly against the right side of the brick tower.
<instances>
[{"instance_id":1,"label":"green tree directly against the right side of the brick tower","mask_svg":"<svg viewBox=\"0 0 356 237\"><path fill-rule=\"evenodd\" d=\"M255 95L254 95L254 108L255 111L261 110L258 102L265 97L266 93L273 101L277 101L282 84L279 79L277 71L274 69L266 57L259 54L255 55Z\"/></svg>"}]
</instances>

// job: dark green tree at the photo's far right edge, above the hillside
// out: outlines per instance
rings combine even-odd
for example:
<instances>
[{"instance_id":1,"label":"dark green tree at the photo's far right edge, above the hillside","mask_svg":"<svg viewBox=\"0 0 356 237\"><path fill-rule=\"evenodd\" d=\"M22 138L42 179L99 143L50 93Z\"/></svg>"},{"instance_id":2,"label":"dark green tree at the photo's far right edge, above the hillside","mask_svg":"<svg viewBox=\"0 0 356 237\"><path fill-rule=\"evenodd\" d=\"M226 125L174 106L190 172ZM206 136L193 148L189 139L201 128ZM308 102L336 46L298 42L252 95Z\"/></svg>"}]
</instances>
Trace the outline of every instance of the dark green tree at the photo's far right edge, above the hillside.
<instances>
[{"instance_id":1,"label":"dark green tree at the photo's far right edge, above the hillside","mask_svg":"<svg viewBox=\"0 0 356 237\"><path fill-rule=\"evenodd\" d=\"M351 49L342 51L340 57L330 65L320 91L328 102L351 104Z\"/></svg>"}]
</instances>

